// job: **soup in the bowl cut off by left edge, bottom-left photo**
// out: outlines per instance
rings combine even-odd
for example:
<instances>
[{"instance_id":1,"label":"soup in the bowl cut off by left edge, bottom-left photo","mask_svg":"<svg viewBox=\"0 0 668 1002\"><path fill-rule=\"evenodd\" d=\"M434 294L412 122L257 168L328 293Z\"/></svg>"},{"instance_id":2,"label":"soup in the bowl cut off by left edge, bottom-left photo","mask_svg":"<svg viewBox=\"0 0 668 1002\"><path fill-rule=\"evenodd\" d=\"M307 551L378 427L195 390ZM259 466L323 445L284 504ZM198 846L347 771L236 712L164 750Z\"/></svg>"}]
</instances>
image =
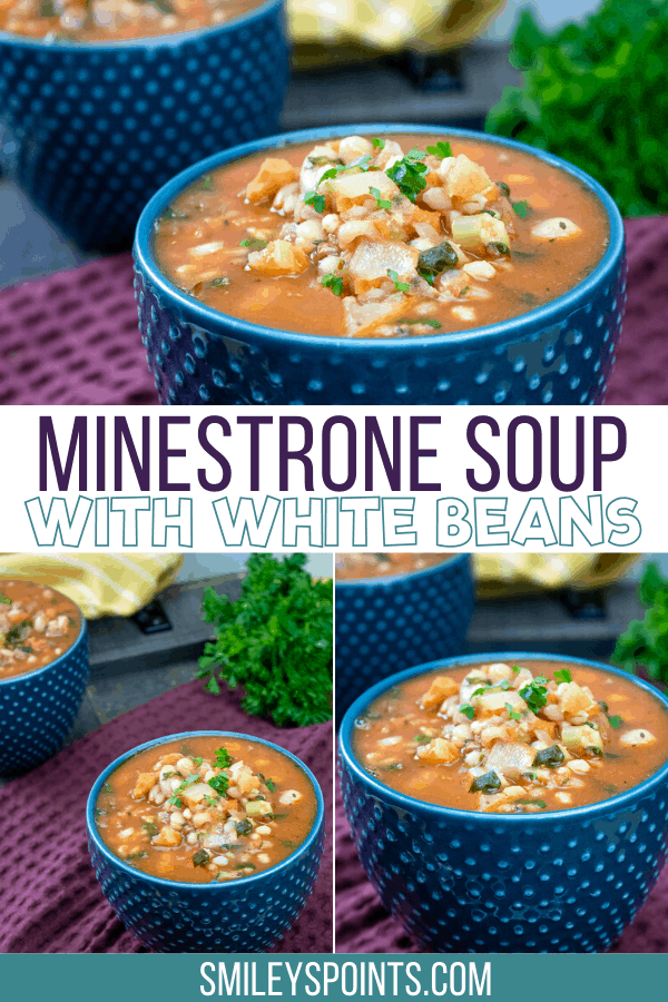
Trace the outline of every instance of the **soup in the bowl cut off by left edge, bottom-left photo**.
<instances>
[{"instance_id":1,"label":"soup in the bowl cut off by left edge, bottom-left photo","mask_svg":"<svg viewBox=\"0 0 668 1002\"><path fill-rule=\"evenodd\" d=\"M80 631L79 609L59 591L0 580L0 679L50 665Z\"/></svg>"}]
</instances>

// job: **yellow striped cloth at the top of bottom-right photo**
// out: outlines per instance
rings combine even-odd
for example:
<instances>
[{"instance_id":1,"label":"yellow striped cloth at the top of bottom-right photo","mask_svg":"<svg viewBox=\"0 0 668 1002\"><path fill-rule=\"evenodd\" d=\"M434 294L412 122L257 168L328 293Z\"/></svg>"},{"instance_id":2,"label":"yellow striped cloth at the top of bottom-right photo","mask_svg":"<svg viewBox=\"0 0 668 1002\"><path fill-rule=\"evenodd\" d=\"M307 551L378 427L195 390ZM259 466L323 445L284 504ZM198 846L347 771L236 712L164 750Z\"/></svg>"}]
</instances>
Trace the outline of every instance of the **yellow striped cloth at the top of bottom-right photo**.
<instances>
[{"instance_id":1,"label":"yellow striped cloth at the top of bottom-right photo","mask_svg":"<svg viewBox=\"0 0 668 1002\"><path fill-rule=\"evenodd\" d=\"M509 598L559 588L600 588L622 578L639 553L475 553L478 597Z\"/></svg>"}]
</instances>

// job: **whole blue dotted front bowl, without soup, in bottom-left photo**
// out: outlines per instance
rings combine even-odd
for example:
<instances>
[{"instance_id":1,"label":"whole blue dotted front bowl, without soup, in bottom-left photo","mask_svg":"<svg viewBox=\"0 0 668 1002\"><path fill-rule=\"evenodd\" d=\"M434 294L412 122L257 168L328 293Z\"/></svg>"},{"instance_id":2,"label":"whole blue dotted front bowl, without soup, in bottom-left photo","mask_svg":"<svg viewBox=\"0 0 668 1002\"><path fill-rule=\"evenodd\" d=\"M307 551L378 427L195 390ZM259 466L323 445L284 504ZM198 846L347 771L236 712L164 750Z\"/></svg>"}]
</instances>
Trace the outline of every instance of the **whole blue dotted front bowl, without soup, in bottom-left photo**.
<instances>
[{"instance_id":1,"label":"whole blue dotted front bowl, without soup, in bottom-left photo","mask_svg":"<svg viewBox=\"0 0 668 1002\"><path fill-rule=\"evenodd\" d=\"M313 784L317 813L306 839L271 870L220 884L186 884L141 873L100 838L95 806L100 787L121 763L156 745L193 737L246 738L292 758ZM313 773L285 748L245 734L199 730L139 745L107 766L86 806L88 846L109 904L130 932L158 953L264 953L291 927L313 891L324 847L324 805Z\"/></svg>"}]
</instances>

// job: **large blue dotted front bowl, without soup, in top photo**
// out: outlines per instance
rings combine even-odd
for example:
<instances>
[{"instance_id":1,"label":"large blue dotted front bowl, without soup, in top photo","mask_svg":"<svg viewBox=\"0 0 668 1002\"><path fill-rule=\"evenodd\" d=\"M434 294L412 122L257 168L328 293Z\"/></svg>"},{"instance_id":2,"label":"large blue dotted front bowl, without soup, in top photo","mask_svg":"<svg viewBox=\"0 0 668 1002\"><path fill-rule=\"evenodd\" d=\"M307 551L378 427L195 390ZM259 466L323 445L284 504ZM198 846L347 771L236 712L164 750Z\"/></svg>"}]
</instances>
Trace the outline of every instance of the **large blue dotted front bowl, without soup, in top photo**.
<instances>
[{"instance_id":1,"label":"large blue dotted front bowl, without soup, in top photo","mask_svg":"<svg viewBox=\"0 0 668 1002\"><path fill-rule=\"evenodd\" d=\"M218 313L173 285L153 252L156 219L203 174L239 157L351 132L443 131L540 157L601 202L610 242L569 293L500 324L429 337L323 337ZM602 403L626 303L623 225L610 196L564 160L522 143L435 126L310 129L209 157L165 185L141 214L135 239L139 330L165 404L586 404Z\"/></svg>"}]
</instances>

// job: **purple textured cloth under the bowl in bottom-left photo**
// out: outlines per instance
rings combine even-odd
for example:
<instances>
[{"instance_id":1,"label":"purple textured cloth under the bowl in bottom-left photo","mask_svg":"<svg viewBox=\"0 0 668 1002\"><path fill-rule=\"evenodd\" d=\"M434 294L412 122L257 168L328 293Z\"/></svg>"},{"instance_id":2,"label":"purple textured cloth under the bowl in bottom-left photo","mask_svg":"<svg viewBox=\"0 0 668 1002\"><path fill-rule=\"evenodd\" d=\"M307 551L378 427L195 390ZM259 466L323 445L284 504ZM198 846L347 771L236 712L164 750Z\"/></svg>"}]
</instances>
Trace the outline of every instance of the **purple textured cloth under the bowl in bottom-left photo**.
<instances>
[{"instance_id":1,"label":"purple textured cloth under the bowl in bottom-left photo","mask_svg":"<svg viewBox=\"0 0 668 1002\"><path fill-rule=\"evenodd\" d=\"M0 854L0 952L138 953L96 881L86 838L86 800L102 769L124 752L168 734L235 730L288 749L312 769L325 799L321 873L279 953L332 950L332 725L278 728L248 717L238 696L179 686L75 741L2 790L11 805Z\"/></svg>"}]
</instances>

